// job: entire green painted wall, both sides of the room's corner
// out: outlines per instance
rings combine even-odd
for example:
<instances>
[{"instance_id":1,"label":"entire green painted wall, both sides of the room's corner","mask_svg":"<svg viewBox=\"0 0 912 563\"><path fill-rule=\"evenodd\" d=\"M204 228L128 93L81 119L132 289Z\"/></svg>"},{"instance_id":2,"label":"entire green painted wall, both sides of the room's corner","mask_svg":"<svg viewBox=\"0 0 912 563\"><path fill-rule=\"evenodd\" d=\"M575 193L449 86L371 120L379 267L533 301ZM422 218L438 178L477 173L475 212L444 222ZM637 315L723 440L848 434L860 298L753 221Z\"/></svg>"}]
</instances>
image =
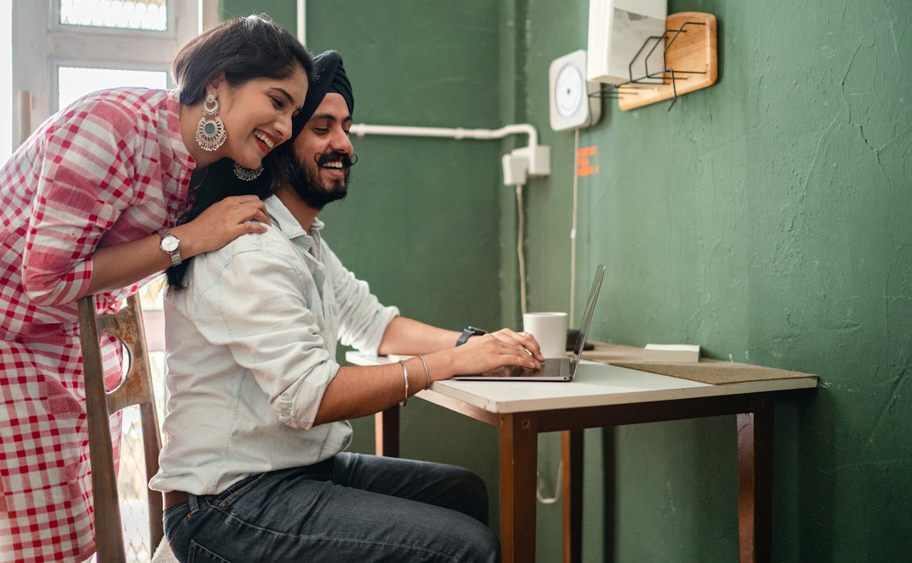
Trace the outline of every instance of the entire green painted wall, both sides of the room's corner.
<instances>
[{"instance_id":1,"label":"entire green painted wall, both sides of the room's corner","mask_svg":"<svg viewBox=\"0 0 912 563\"><path fill-rule=\"evenodd\" d=\"M574 136L550 130L547 72L586 48L587 6L307 2L310 47L345 57L357 122L534 123L553 173L525 189L530 308L569 304ZM900 0L668 8L719 18L720 80L671 111L606 100L581 132L600 172L579 183L577 313L605 262L596 339L819 374L819 389L776 403L773 559L907 560L912 13ZM343 260L409 316L515 324L515 196L499 160L516 141L355 143L353 191L325 214ZM420 401L404 416L403 454L470 466L497 498L491 428ZM370 422L356 423L369 451ZM736 560L734 446L731 417L588 431L585 560ZM556 438L541 450L547 494ZM559 522L556 505L538 513L540 529ZM559 538L539 534L538 553L558 560Z\"/></svg>"}]
</instances>

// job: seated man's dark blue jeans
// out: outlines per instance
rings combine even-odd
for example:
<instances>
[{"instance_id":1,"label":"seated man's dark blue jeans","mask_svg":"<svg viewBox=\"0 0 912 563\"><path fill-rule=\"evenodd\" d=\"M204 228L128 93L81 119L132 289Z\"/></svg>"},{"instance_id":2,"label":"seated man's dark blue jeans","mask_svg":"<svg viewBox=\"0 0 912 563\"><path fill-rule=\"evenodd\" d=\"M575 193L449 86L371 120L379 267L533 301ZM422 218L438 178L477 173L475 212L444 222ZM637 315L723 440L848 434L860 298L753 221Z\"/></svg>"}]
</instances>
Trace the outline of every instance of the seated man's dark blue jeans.
<instances>
[{"instance_id":1,"label":"seated man's dark blue jeans","mask_svg":"<svg viewBox=\"0 0 912 563\"><path fill-rule=\"evenodd\" d=\"M258 474L164 514L184 563L500 561L476 474L444 464L337 454Z\"/></svg>"}]
</instances>

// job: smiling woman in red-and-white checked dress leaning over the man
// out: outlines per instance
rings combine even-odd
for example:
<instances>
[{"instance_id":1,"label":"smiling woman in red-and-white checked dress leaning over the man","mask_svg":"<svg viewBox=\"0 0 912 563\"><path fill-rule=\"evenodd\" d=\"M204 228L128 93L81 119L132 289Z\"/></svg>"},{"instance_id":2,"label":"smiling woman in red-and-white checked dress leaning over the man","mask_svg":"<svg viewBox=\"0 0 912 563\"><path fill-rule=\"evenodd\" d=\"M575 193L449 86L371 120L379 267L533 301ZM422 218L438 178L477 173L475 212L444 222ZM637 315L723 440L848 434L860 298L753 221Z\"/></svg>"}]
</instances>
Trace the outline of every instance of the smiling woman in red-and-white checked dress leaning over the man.
<instances>
[{"instance_id":1,"label":"smiling woman in red-and-white checked dress leaning over the man","mask_svg":"<svg viewBox=\"0 0 912 563\"><path fill-rule=\"evenodd\" d=\"M166 267L263 232L250 222L268 223L255 195L178 223L212 162L266 179L264 156L291 135L312 68L273 22L223 22L181 47L177 89L78 99L0 170L0 559L94 551L75 302L98 294L98 311L114 310ZM117 381L119 350L106 342L104 355Z\"/></svg>"}]
</instances>

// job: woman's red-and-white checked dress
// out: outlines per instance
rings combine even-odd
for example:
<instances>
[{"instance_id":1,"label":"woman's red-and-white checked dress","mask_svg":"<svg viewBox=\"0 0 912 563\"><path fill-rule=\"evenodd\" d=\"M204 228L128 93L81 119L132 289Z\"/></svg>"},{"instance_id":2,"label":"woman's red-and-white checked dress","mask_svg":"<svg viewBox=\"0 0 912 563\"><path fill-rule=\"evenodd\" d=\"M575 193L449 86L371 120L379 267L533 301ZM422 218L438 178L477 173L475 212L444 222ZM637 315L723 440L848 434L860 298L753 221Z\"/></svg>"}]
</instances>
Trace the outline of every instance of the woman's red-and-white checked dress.
<instances>
[{"instance_id":1,"label":"woman's red-and-white checked dress","mask_svg":"<svg viewBox=\"0 0 912 563\"><path fill-rule=\"evenodd\" d=\"M174 224L192 157L173 91L89 94L0 170L0 561L82 561L95 550L75 300L91 253ZM142 280L96 297L111 312ZM119 347L103 343L106 381ZM112 417L115 457L119 416Z\"/></svg>"}]
</instances>

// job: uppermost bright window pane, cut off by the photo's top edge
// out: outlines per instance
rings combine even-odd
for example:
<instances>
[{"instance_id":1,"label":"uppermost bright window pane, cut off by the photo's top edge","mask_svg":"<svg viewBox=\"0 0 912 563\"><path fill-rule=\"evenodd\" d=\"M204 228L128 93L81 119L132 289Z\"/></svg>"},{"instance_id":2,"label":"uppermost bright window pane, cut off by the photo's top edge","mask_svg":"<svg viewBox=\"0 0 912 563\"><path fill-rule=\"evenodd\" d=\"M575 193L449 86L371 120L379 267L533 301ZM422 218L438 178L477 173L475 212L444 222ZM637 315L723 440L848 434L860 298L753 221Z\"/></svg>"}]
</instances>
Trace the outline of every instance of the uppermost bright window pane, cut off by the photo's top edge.
<instances>
[{"instance_id":1,"label":"uppermost bright window pane, cut off by the photo's top edge","mask_svg":"<svg viewBox=\"0 0 912 563\"><path fill-rule=\"evenodd\" d=\"M168 29L168 0L60 0L67 26Z\"/></svg>"}]
</instances>

